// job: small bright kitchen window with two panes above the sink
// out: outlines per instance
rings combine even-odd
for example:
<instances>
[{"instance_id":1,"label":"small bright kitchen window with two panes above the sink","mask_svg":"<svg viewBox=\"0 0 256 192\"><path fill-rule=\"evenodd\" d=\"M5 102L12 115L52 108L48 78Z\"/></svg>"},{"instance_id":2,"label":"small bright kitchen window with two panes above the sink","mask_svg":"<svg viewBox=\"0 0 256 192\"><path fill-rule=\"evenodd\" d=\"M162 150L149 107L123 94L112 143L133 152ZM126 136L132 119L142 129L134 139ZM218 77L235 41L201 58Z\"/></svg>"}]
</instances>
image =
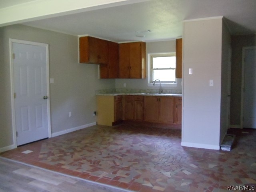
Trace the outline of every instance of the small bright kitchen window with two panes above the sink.
<instances>
[{"instance_id":1,"label":"small bright kitchen window with two panes above the sink","mask_svg":"<svg viewBox=\"0 0 256 192\"><path fill-rule=\"evenodd\" d=\"M163 83L176 82L176 54L150 55L150 82L159 79Z\"/></svg>"}]
</instances>

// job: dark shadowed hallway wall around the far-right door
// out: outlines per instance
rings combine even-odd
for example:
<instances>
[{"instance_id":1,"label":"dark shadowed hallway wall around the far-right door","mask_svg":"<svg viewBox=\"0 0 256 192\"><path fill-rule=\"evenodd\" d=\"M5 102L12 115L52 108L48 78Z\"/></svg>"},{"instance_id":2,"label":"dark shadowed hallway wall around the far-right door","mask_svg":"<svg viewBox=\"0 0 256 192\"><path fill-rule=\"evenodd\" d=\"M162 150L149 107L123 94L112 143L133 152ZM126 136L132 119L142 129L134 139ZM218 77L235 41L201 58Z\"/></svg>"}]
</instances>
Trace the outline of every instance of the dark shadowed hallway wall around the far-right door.
<instances>
[{"instance_id":1,"label":"dark shadowed hallway wall around the far-right door","mask_svg":"<svg viewBox=\"0 0 256 192\"><path fill-rule=\"evenodd\" d=\"M242 48L256 46L256 35L232 36L230 126L240 127Z\"/></svg>"}]
</instances>

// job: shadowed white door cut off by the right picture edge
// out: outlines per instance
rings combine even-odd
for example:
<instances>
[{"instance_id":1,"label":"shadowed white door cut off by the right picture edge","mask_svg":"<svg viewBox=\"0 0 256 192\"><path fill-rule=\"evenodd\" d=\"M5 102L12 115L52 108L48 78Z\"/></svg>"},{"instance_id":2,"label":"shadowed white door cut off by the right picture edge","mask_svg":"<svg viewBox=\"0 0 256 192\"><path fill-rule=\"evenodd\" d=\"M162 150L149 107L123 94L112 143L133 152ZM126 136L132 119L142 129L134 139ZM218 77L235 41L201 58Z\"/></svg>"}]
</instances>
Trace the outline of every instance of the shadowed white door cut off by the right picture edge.
<instances>
[{"instance_id":1,"label":"shadowed white door cut off by the right picture edge","mask_svg":"<svg viewBox=\"0 0 256 192\"><path fill-rule=\"evenodd\" d=\"M256 48L244 50L244 128L256 128Z\"/></svg>"}]
</instances>

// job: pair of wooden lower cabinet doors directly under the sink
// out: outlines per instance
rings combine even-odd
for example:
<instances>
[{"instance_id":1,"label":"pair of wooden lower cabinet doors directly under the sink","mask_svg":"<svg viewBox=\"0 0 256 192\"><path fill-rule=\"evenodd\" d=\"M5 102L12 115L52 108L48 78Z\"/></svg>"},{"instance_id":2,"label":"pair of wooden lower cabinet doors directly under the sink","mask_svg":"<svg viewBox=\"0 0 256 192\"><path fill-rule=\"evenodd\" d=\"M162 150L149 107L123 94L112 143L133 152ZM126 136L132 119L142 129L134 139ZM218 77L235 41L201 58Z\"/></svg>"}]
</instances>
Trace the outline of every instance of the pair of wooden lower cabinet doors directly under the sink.
<instances>
[{"instance_id":1,"label":"pair of wooden lower cabinet doors directly under the sink","mask_svg":"<svg viewBox=\"0 0 256 192\"><path fill-rule=\"evenodd\" d=\"M145 96L146 122L172 124L174 122L174 97Z\"/></svg>"}]
</instances>

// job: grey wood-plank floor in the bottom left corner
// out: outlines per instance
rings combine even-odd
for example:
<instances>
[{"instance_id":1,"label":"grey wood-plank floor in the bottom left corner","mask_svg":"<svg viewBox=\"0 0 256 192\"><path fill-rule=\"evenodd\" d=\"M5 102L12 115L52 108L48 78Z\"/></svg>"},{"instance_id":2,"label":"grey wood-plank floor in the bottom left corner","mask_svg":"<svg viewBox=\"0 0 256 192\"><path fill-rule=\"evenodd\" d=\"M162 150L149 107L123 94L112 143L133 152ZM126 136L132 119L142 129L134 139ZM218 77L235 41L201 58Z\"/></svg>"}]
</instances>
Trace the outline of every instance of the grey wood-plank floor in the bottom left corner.
<instances>
[{"instance_id":1,"label":"grey wood-plank floor in the bottom left corner","mask_svg":"<svg viewBox=\"0 0 256 192\"><path fill-rule=\"evenodd\" d=\"M0 157L0 192L127 192Z\"/></svg>"}]
</instances>

